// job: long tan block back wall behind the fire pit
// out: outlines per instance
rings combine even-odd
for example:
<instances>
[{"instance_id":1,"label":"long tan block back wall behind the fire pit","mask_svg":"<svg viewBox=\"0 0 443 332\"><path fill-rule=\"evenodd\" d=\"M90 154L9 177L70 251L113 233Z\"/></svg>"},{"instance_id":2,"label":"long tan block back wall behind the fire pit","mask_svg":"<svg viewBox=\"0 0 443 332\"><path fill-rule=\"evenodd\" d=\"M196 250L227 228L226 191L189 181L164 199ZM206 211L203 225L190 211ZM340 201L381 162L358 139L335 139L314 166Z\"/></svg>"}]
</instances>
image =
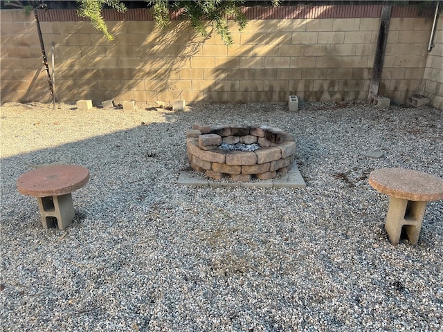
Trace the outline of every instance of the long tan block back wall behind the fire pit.
<instances>
[{"instance_id":1,"label":"long tan block back wall behind the fire pit","mask_svg":"<svg viewBox=\"0 0 443 332\"><path fill-rule=\"evenodd\" d=\"M21 23L16 23L21 22ZM379 15L251 19L234 45L195 35L185 21L109 21L109 42L87 21L42 21L55 94L73 102L286 102L368 98ZM422 91L431 17L392 17L379 94L404 102ZM440 56L442 50L440 48ZM1 100L49 100L33 15L1 10Z\"/></svg>"}]
</instances>

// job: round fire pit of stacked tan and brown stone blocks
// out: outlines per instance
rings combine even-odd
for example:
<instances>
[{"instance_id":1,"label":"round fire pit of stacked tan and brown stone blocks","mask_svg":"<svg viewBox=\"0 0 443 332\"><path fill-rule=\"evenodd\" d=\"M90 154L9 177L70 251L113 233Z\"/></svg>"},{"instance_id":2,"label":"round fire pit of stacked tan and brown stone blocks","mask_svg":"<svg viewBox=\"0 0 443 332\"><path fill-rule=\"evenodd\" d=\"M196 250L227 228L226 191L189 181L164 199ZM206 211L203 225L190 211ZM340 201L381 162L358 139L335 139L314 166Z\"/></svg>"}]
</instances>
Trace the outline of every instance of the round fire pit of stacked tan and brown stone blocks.
<instances>
[{"instance_id":1,"label":"round fire pit of stacked tan and brown stone blocks","mask_svg":"<svg viewBox=\"0 0 443 332\"><path fill-rule=\"evenodd\" d=\"M210 127L194 124L186 133L191 167L219 180L269 180L291 169L296 142L282 129L264 125Z\"/></svg>"}]
</instances>

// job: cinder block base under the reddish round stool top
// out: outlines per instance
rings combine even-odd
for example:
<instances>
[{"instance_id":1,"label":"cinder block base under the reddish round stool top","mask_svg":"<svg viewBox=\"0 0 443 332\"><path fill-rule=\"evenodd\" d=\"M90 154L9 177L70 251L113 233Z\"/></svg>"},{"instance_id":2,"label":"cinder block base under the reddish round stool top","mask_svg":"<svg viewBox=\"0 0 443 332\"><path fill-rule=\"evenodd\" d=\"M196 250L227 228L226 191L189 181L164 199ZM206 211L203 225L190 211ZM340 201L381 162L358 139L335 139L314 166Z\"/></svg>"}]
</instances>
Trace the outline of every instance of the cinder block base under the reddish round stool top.
<instances>
[{"instance_id":1,"label":"cinder block base under the reddish round stool top","mask_svg":"<svg viewBox=\"0 0 443 332\"><path fill-rule=\"evenodd\" d=\"M58 227L64 230L74 219L74 205L71 194L37 198L44 228Z\"/></svg>"}]
</instances>

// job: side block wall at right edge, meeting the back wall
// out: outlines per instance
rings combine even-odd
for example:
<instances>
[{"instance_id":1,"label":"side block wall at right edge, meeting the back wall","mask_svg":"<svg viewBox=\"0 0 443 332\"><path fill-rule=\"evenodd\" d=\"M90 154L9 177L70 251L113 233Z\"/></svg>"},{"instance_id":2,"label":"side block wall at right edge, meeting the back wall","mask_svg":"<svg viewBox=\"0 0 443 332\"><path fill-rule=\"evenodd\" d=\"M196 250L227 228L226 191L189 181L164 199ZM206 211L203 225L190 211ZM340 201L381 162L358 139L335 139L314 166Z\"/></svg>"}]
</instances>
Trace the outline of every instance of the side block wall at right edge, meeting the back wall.
<instances>
[{"instance_id":1,"label":"side block wall at right edge, meeting the back wall","mask_svg":"<svg viewBox=\"0 0 443 332\"><path fill-rule=\"evenodd\" d=\"M440 15L434 35L434 47L428 53L422 94L431 99L434 107L443 109L443 17Z\"/></svg>"}]
</instances>

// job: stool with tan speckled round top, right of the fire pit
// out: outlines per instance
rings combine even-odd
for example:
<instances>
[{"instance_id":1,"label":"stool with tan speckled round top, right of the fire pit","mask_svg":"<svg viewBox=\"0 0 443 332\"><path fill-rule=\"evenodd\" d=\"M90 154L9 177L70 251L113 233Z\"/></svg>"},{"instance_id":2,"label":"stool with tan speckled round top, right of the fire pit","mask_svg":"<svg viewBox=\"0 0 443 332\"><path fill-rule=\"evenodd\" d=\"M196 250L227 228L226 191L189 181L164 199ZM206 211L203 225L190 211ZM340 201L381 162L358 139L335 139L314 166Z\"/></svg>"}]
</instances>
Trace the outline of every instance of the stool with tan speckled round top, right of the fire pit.
<instances>
[{"instance_id":1,"label":"stool with tan speckled round top, right of the fire pit","mask_svg":"<svg viewBox=\"0 0 443 332\"><path fill-rule=\"evenodd\" d=\"M398 244L404 230L410 243L417 244L426 204L443 199L443 179L411 169L381 168L370 172L369 184L390 196L385 223L390 242Z\"/></svg>"}]
</instances>

